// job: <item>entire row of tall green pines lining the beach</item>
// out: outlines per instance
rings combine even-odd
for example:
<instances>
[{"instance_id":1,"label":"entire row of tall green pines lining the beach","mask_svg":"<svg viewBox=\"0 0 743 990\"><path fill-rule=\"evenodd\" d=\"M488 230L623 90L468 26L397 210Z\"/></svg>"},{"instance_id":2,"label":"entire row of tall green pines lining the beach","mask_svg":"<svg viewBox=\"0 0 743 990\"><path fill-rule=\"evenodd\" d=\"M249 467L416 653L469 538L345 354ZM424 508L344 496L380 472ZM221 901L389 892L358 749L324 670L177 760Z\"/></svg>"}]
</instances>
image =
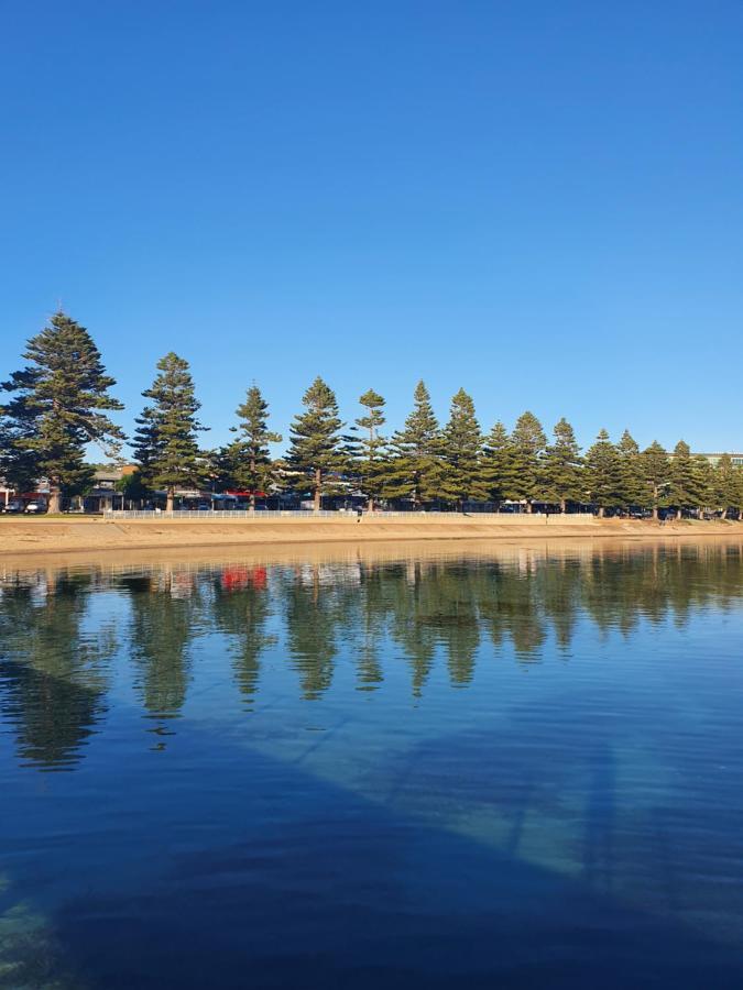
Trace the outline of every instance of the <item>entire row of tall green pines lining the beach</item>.
<instances>
[{"instance_id":1,"label":"entire row of tall green pines lining the beach","mask_svg":"<svg viewBox=\"0 0 743 990\"><path fill-rule=\"evenodd\" d=\"M2 383L10 398L0 406L0 476L20 491L39 479L50 483L50 510L63 496L84 494L92 485L86 463L88 444L119 458L127 440L109 414L123 406L111 395L116 385L90 333L63 312L29 340L28 362ZM171 352L157 362L153 384L132 439L136 474L129 495L144 498L165 492L172 509L178 488L239 488L251 493L291 490L323 496L363 494L369 508L406 504L416 508L468 503L517 502L533 512L546 504L568 512L591 505L607 510L662 508L726 517L743 512L743 471L729 454L712 466L679 440L669 454L657 441L641 450L625 430L618 442L601 430L582 451L572 427L560 419L548 438L533 413L518 417L509 432L496 422L484 432L470 395L460 388L449 417L440 424L430 395L419 382L403 427L385 433L385 400L373 388L359 397L350 426L340 418L335 393L317 377L305 392L303 411L289 428L285 455L272 457L283 438L271 429L270 408L251 385L236 409L234 438L206 449L188 362Z\"/></svg>"}]
</instances>

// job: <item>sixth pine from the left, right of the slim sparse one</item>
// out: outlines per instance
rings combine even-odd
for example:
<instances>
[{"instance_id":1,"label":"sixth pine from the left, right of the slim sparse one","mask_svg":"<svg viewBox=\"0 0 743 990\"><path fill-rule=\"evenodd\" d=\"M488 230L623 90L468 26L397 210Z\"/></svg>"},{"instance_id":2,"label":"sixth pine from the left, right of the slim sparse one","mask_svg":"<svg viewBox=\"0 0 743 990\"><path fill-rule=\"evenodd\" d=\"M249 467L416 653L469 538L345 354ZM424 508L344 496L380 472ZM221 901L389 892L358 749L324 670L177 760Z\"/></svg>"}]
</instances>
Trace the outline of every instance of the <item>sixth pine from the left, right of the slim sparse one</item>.
<instances>
[{"instance_id":1,"label":"sixth pine from the left, right of the slim sparse one","mask_svg":"<svg viewBox=\"0 0 743 990\"><path fill-rule=\"evenodd\" d=\"M444 479L441 437L423 382L415 388L414 408L404 428L393 435L391 450L384 485L387 498L409 498L420 506L440 497Z\"/></svg>"}]
</instances>

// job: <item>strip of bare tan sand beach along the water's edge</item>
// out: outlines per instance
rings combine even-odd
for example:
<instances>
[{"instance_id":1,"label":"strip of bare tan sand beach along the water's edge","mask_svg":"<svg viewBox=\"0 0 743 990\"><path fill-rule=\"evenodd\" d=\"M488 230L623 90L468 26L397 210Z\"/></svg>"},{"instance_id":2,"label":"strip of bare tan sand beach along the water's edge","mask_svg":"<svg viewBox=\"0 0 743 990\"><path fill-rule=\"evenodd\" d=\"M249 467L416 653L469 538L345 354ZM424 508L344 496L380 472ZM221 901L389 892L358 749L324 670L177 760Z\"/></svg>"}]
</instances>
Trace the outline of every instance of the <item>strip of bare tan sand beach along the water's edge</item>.
<instances>
[{"instance_id":1,"label":"strip of bare tan sand beach along the water's edge","mask_svg":"<svg viewBox=\"0 0 743 990\"><path fill-rule=\"evenodd\" d=\"M436 519L336 520L254 519L138 519L108 520L100 517L78 518L0 518L0 554L8 558L54 557L85 553L129 553L130 551L199 551L229 549L266 550L269 548L330 544L470 542L481 549L488 546L524 546L535 541L599 540L653 542L667 540L707 540L743 538L743 522L682 520L658 524L652 520L594 519L550 516L505 516L480 521L477 517L445 516Z\"/></svg>"}]
</instances>

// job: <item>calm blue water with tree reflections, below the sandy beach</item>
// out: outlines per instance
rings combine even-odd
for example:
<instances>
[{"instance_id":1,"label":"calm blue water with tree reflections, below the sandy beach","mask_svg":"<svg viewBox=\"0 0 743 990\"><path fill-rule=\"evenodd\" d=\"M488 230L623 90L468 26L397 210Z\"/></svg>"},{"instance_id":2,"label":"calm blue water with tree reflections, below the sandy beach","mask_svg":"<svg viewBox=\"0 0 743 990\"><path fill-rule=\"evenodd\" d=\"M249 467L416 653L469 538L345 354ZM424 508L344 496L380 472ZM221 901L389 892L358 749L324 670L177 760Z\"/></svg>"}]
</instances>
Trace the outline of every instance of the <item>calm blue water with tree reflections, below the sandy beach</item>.
<instances>
[{"instance_id":1,"label":"calm blue water with tree reflections, below the sandy beach","mask_svg":"<svg viewBox=\"0 0 743 990\"><path fill-rule=\"evenodd\" d=\"M0 576L0 987L743 986L740 546Z\"/></svg>"}]
</instances>

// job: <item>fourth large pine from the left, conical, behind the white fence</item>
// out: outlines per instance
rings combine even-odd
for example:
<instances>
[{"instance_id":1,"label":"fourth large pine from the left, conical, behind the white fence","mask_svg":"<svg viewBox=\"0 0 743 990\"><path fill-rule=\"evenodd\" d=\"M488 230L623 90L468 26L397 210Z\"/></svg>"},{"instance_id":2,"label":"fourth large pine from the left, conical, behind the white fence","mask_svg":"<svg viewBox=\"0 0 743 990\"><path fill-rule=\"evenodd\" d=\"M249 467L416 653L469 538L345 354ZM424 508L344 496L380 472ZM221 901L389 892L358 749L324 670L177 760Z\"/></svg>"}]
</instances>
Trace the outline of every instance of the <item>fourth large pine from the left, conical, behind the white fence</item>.
<instances>
[{"instance_id":1,"label":"fourth large pine from the left, conical, behind the white fence","mask_svg":"<svg viewBox=\"0 0 743 990\"><path fill-rule=\"evenodd\" d=\"M296 416L292 424L286 460L291 468L307 477L315 512L319 512L328 473L343 466L339 437L343 425L338 417L335 393L319 376L305 392L302 402L307 411Z\"/></svg>"}]
</instances>

